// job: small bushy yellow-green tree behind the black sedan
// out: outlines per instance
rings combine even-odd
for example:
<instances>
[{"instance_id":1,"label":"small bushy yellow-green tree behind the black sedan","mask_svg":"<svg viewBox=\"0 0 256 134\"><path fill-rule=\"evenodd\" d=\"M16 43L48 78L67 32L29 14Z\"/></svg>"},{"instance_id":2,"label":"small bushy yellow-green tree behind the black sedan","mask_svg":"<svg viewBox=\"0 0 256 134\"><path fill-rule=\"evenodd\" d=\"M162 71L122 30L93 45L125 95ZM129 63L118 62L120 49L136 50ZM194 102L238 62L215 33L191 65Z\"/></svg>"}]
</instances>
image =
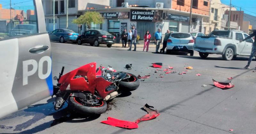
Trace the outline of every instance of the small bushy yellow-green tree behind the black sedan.
<instances>
[{"instance_id":1,"label":"small bushy yellow-green tree behind the black sedan","mask_svg":"<svg viewBox=\"0 0 256 134\"><path fill-rule=\"evenodd\" d=\"M77 25L83 25L86 24L86 26L90 29L91 24L102 24L103 23L103 17L99 12L96 11L87 11L77 19L73 19L72 23L75 23Z\"/></svg>"}]
</instances>

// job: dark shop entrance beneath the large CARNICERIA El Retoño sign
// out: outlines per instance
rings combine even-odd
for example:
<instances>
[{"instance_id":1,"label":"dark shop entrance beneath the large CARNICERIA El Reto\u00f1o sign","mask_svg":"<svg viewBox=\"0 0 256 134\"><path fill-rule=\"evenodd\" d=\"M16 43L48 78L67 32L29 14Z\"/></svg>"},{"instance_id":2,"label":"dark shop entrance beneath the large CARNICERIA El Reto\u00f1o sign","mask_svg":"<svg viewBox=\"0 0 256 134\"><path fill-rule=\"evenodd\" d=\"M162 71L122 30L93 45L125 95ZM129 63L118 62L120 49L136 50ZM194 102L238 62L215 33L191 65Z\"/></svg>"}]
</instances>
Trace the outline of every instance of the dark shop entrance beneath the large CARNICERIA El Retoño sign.
<instances>
[{"instance_id":1,"label":"dark shop entrance beneath the large CARNICERIA El Reto\u00f1o sign","mask_svg":"<svg viewBox=\"0 0 256 134\"><path fill-rule=\"evenodd\" d=\"M156 32L155 31L155 23L154 22L137 22L137 33L140 35L140 40L144 40L144 34L146 33L147 30L149 30L150 34L151 34L151 39L150 40L154 40L153 39L153 35Z\"/></svg>"}]
</instances>

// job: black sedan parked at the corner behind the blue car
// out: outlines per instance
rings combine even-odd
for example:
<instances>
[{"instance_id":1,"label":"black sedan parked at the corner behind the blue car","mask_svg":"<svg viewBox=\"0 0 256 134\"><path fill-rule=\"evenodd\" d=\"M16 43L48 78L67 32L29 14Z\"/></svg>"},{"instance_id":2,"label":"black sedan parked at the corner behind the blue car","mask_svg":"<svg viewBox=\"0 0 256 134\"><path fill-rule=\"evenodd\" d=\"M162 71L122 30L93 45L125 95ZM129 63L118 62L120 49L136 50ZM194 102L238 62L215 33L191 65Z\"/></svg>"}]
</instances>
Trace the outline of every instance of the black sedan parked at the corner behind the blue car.
<instances>
[{"instance_id":1,"label":"black sedan parked at the corner behind the blue car","mask_svg":"<svg viewBox=\"0 0 256 134\"><path fill-rule=\"evenodd\" d=\"M89 30L84 32L76 39L77 44L81 45L83 43L88 43L91 46L98 47L100 44L105 44L110 48L112 44L115 44L116 37L110 33L102 30Z\"/></svg>"}]
</instances>

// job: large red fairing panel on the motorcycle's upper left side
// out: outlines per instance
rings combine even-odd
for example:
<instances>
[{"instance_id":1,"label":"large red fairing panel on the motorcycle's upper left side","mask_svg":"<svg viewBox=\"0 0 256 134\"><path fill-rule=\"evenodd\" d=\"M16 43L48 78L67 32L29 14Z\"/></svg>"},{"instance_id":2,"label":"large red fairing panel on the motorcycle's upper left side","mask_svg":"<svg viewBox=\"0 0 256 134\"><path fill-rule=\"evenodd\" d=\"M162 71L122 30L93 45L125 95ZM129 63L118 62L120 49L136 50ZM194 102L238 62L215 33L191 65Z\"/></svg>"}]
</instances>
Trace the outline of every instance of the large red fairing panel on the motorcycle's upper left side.
<instances>
[{"instance_id":1,"label":"large red fairing panel on the motorcycle's upper left side","mask_svg":"<svg viewBox=\"0 0 256 134\"><path fill-rule=\"evenodd\" d=\"M76 78L76 75L87 76L88 82L84 78ZM96 62L86 64L67 74L61 76L59 83L60 90L65 91L70 84L70 90L83 90L94 93L96 87Z\"/></svg>"}]
</instances>

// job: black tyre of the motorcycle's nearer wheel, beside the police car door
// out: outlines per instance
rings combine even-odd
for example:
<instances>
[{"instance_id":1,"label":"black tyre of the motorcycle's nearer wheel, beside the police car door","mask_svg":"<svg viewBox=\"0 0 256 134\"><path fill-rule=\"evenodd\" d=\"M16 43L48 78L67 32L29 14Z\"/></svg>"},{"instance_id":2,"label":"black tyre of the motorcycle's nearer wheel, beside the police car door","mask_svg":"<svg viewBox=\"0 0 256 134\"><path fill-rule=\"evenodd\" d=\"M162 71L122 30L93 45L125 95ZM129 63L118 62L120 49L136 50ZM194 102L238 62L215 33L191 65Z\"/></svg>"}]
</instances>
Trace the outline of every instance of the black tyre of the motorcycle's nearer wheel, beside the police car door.
<instances>
[{"instance_id":1,"label":"black tyre of the motorcycle's nearer wheel, beside the police car door","mask_svg":"<svg viewBox=\"0 0 256 134\"><path fill-rule=\"evenodd\" d=\"M70 96L68 98L68 106L71 110L80 113L80 114L86 114L86 115L100 115L104 113L107 110L107 103L105 100L100 99L99 100L100 106L85 106L80 98L75 96Z\"/></svg>"}]
</instances>

